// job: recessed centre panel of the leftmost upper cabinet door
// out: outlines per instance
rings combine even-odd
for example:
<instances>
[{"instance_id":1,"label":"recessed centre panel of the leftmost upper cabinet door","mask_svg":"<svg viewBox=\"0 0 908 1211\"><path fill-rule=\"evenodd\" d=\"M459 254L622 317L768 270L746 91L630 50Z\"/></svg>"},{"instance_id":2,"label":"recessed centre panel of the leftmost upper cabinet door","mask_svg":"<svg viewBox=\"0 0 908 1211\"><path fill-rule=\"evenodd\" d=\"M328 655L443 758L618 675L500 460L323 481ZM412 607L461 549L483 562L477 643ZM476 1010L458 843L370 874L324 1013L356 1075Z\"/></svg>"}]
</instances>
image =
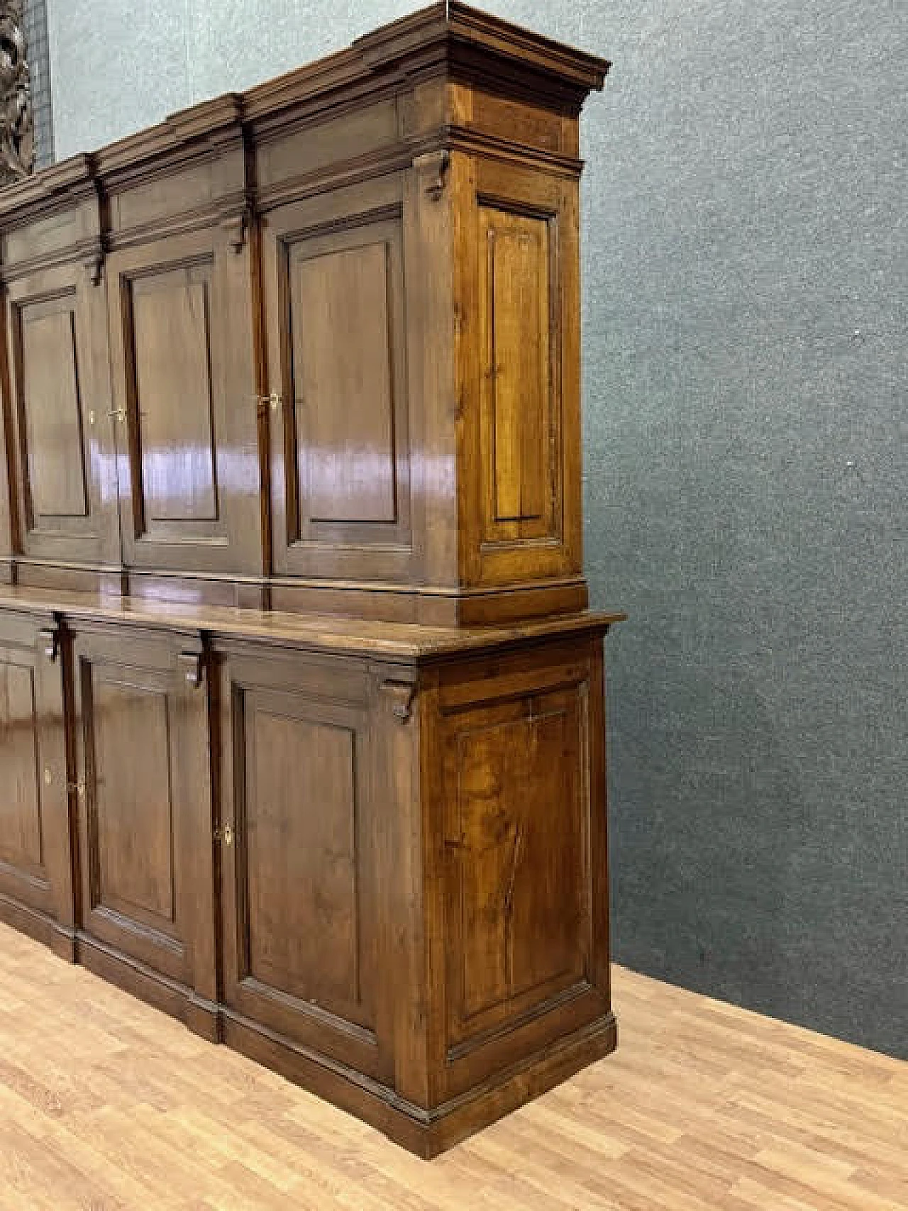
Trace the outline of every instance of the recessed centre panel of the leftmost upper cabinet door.
<instances>
[{"instance_id":1,"label":"recessed centre panel of the leftmost upper cabinet door","mask_svg":"<svg viewBox=\"0 0 908 1211\"><path fill-rule=\"evenodd\" d=\"M22 407L30 527L35 517L86 517L75 292L22 308Z\"/></svg>"}]
</instances>

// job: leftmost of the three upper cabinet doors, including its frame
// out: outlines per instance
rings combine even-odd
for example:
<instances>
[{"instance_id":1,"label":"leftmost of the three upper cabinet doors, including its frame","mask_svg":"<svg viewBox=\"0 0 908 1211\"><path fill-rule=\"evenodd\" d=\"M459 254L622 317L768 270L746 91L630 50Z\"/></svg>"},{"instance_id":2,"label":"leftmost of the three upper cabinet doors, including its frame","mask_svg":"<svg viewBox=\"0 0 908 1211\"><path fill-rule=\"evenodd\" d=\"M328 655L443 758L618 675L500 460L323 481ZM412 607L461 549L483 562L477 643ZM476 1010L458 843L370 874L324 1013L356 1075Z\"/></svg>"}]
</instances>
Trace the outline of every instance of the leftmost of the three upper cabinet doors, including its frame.
<instances>
[{"instance_id":1,"label":"leftmost of the three upper cabinet doors, including its frame","mask_svg":"<svg viewBox=\"0 0 908 1211\"><path fill-rule=\"evenodd\" d=\"M21 551L119 564L104 288L56 266L15 281L7 314Z\"/></svg>"}]
</instances>

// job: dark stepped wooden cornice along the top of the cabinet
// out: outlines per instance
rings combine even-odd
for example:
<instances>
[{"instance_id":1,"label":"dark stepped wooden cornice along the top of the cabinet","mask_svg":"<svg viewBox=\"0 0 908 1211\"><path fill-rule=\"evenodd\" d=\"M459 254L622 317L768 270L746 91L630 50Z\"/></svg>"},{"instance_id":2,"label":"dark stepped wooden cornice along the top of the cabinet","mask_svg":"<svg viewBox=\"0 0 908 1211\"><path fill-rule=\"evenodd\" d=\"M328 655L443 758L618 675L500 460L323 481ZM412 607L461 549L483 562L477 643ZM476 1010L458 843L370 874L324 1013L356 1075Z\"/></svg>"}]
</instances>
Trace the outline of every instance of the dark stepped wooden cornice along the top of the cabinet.
<instances>
[{"instance_id":1,"label":"dark stepped wooden cornice along the top of the cabinet","mask_svg":"<svg viewBox=\"0 0 908 1211\"><path fill-rule=\"evenodd\" d=\"M600 90L610 63L521 25L459 4L433 4L357 38L350 47L315 59L246 92L229 92L168 115L88 154L79 154L0 188L0 218L56 199L153 160L188 153L217 155L243 128L268 125L294 107L333 104L389 86L448 74L508 93L529 87L554 108L580 111Z\"/></svg>"}]
</instances>

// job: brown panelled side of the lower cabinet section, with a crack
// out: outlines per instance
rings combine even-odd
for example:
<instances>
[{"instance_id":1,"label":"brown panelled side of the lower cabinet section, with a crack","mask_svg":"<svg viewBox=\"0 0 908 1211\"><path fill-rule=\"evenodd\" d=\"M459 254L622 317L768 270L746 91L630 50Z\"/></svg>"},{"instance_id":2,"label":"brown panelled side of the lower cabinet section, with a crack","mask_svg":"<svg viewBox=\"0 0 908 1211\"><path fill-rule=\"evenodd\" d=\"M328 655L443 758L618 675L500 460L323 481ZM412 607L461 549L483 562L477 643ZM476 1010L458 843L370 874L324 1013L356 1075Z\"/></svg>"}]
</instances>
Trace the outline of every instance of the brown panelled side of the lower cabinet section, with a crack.
<instances>
[{"instance_id":1,"label":"brown panelled side of the lower cabinet section, with a crack","mask_svg":"<svg viewBox=\"0 0 908 1211\"><path fill-rule=\"evenodd\" d=\"M442 675L429 866L448 1097L609 1012L598 648L584 638Z\"/></svg>"}]
</instances>

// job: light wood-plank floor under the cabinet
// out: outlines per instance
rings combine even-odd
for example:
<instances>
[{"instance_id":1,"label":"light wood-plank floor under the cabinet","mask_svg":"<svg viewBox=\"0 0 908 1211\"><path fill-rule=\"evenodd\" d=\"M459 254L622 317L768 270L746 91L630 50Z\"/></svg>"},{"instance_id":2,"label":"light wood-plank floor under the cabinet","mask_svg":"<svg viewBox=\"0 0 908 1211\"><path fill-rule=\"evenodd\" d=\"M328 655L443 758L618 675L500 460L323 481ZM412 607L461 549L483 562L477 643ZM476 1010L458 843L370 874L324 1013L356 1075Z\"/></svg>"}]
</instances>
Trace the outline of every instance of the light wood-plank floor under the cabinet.
<instances>
[{"instance_id":1,"label":"light wood-plank floor under the cabinet","mask_svg":"<svg viewBox=\"0 0 908 1211\"><path fill-rule=\"evenodd\" d=\"M0 1207L906 1211L908 1064L615 970L619 1051L426 1164L0 926Z\"/></svg>"}]
</instances>

